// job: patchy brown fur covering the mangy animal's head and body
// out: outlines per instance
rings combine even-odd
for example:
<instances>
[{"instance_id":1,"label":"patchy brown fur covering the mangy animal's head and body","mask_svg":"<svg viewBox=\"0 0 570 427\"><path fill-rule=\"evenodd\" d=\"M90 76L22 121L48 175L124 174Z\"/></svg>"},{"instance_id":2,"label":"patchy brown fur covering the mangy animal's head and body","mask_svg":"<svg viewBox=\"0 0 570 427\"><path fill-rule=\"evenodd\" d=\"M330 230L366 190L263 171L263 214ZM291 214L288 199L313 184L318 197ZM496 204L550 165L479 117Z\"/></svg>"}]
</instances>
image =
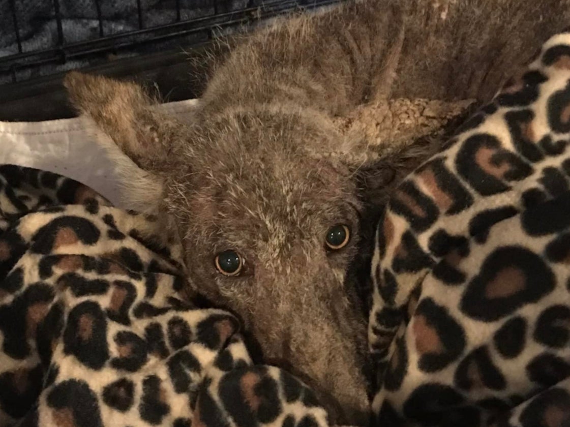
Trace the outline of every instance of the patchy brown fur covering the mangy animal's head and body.
<instances>
[{"instance_id":1,"label":"patchy brown fur covering the mangy animal's head and body","mask_svg":"<svg viewBox=\"0 0 570 427\"><path fill-rule=\"evenodd\" d=\"M66 86L109 150L138 166L120 160L133 208L180 233L190 286L241 316L268 361L319 391L333 422L364 422L365 302L347 278L367 271L365 207L442 138L370 141L338 117L396 99L480 104L568 25L569 3L368 0L293 17L231 51L188 123L158 115L133 83L75 72ZM327 253L335 223L352 239ZM241 276L215 270L226 249L245 258Z\"/></svg>"}]
</instances>

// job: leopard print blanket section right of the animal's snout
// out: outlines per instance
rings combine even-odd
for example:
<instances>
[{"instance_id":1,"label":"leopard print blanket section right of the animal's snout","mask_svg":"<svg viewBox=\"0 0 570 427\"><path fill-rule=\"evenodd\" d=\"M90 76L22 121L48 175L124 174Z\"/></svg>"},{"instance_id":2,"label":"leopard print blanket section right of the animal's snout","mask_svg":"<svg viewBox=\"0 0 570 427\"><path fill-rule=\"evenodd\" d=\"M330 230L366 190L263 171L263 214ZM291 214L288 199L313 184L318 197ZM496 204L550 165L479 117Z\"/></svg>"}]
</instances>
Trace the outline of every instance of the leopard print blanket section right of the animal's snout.
<instances>
[{"instance_id":1,"label":"leopard print blanket section right of the animal's snout","mask_svg":"<svg viewBox=\"0 0 570 427\"><path fill-rule=\"evenodd\" d=\"M378 225L380 426L570 425L570 32L519 80Z\"/></svg>"}]
</instances>

